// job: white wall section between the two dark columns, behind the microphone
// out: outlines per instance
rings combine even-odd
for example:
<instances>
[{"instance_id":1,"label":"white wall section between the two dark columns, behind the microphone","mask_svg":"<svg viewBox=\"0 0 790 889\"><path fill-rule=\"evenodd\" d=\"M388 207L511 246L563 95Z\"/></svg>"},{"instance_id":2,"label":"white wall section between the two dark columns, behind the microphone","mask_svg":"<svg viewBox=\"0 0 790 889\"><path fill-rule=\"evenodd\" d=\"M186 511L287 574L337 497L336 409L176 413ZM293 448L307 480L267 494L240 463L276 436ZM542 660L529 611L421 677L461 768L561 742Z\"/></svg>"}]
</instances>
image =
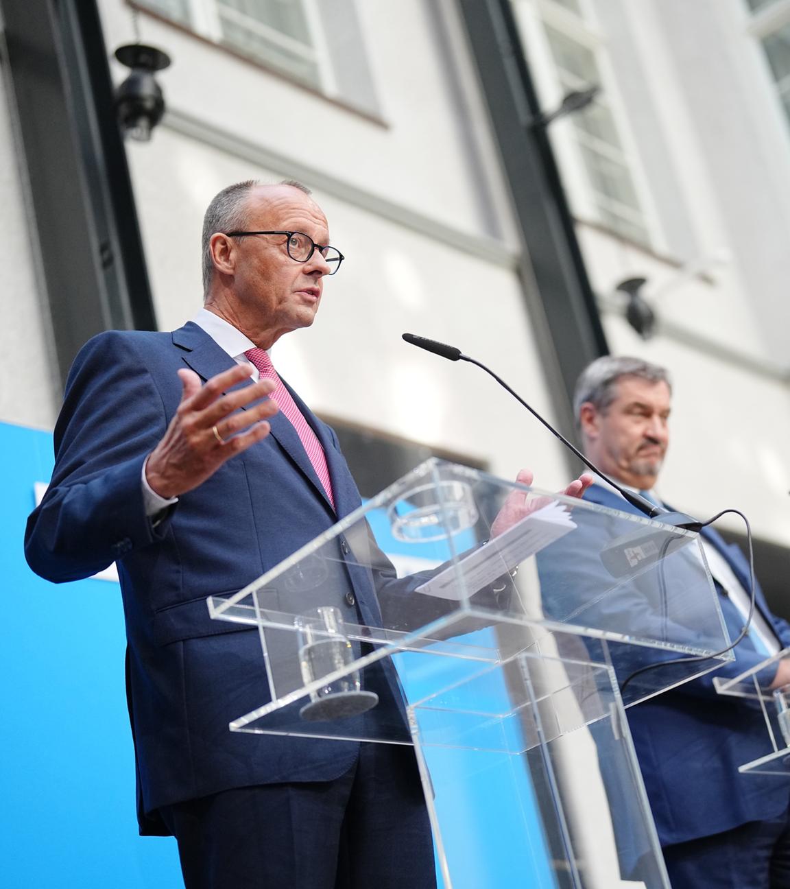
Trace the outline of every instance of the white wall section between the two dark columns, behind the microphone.
<instances>
[{"instance_id":1,"label":"white wall section between the two dark columns, behind the microphone","mask_svg":"<svg viewBox=\"0 0 790 889\"><path fill-rule=\"evenodd\" d=\"M567 469L555 440L493 380L401 340L409 331L457 344L553 414L482 103L471 92L459 104L425 4L359 9L383 123L140 16L143 38L174 60L160 76L170 118L148 145L129 145L160 327L200 305L200 225L211 196L249 177L297 176L314 189L347 261L326 282L314 327L275 347L283 376L318 411L467 453L505 477L530 466L540 484L561 485ZM105 0L102 12L108 46L128 39L122 4ZM473 89L466 49L452 20L445 26L455 79ZM415 47L409 65L405 41Z\"/></svg>"}]
</instances>

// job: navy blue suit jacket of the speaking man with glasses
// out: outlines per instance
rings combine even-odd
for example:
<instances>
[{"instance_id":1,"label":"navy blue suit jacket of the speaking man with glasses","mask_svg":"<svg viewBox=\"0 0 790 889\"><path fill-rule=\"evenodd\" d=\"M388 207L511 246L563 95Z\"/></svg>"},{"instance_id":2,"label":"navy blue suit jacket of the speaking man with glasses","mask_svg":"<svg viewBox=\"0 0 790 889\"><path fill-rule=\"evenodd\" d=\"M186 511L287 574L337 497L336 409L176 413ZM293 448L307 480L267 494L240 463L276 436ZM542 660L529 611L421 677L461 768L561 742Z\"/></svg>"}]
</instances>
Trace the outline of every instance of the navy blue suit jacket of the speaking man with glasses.
<instances>
[{"instance_id":1,"label":"navy blue suit jacket of the speaking man with glasses","mask_svg":"<svg viewBox=\"0 0 790 889\"><path fill-rule=\"evenodd\" d=\"M246 785L329 781L357 754L352 741L228 731L268 700L264 662L257 631L211 621L205 601L243 588L360 505L331 428L292 393L326 453L337 515L282 415L267 438L181 496L161 524L145 514L143 461L179 405L176 372L191 367L207 380L232 366L193 323L88 342L55 429L52 484L28 521L28 563L51 581L117 562L144 833L160 832L148 817L158 806ZM325 604L350 622L378 624L371 585L353 588L355 606L345 597Z\"/></svg>"}]
</instances>

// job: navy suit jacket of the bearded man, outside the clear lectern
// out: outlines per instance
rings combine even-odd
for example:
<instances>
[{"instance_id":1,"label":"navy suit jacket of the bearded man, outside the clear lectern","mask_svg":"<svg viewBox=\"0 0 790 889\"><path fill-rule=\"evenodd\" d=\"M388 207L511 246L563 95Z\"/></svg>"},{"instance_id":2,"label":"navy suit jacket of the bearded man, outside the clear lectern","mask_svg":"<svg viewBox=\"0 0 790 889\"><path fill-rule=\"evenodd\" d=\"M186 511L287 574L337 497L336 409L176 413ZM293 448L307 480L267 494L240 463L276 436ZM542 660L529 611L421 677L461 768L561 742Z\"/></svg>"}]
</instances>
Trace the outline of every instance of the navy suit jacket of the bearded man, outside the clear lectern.
<instances>
[{"instance_id":1,"label":"navy suit jacket of the bearded man, outside the clear lectern","mask_svg":"<svg viewBox=\"0 0 790 889\"><path fill-rule=\"evenodd\" d=\"M586 499L639 515L618 493L601 485L593 485ZM749 566L740 549L727 544L711 528L703 529L702 535L748 589ZM734 639L743 626L743 616L718 589L722 614ZM790 625L770 613L759 586L756 603L776 632L779 645L790 645ZM714 673L626 710L662 845L772 818L790 803L790 781L776 775L738 773L739 765L770 754L772 748L759 706L754 701L724 697L714 689L716 674L737 676L764 657L748 637L738 644L735 656L735 661ZM770 685L774 674L773 668L763 670L761 682ZM625 675L618 678L622 682Z\"/></svg>"}]
</instances>

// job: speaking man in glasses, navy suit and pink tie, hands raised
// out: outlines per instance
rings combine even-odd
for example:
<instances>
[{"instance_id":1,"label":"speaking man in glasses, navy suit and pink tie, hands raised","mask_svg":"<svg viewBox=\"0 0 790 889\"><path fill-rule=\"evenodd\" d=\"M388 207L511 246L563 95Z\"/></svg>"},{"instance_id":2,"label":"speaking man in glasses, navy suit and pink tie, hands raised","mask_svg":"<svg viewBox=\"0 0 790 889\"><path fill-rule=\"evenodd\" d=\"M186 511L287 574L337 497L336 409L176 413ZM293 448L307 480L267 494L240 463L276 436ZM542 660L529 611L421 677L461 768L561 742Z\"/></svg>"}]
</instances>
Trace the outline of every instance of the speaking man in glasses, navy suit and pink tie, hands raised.
<instances>
[{"instance_id":1,"label":"speaking man in glasses, navy suit and pink tie, hands raised","mask_svg":"<svg viewBox=\"0 0 790 889\"><path fill-rule=\"evenodd\" d=\"M106 332L82 349L52 484L28 522L28 562L45 578L117 561L140 832L177 838L188 889L435 885L412 749L230 733L265 702L259 637L211 621L205 603L360 505L334 432L275 389L261 351L313 323L342 260L327 244L298 183L220 192L203 221L204 308L172 333ZM261 400L273 391L280 412ZM338 599L326 604L347 621L381 621L372 589ZM388 663L371 682L394 704Z\"/></svg>"}]
</instances>

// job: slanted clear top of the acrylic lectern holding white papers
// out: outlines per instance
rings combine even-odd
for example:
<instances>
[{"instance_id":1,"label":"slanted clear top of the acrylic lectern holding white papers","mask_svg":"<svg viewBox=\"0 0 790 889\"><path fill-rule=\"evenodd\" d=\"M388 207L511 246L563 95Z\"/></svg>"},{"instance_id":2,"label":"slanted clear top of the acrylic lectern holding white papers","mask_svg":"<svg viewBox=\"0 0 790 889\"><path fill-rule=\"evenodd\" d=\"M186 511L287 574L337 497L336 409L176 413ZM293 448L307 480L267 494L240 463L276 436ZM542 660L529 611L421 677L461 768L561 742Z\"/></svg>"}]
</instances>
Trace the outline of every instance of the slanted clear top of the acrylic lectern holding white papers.
<instances>
[{"instance_id":1,"label":"slanted clear top of the acrylic lectern holding white papers","mask_svg":"<svg viewBox=\"0 0 790 889\"><path fill-rule=\"evenodd\" d=\"M640 671L626 705L732 657L716 654L729 638L696 534L438 460L245 589L209 600L212 617L259 628L270 697L281 702L305 685L291 656L296 622L322 606L353 628L355 661L428 641L464 645L496 623L536 638L577 634L621 683ZM495 647L483 661L515 653ZM698 660L667 663L679 657Z\"/></svg>"}]
</instances>

